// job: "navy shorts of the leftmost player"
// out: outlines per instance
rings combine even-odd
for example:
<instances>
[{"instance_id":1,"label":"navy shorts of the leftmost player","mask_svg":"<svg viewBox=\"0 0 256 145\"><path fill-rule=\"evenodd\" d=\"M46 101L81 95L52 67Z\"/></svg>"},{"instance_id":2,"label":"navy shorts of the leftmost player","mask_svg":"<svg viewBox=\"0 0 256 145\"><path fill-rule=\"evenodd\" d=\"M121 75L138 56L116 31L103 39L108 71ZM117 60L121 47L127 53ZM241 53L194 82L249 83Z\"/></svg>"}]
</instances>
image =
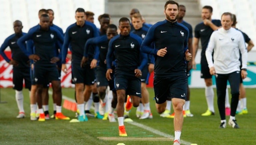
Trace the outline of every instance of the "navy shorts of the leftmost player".
<instances>
[{"instance_id":1,"label":"navy shorts of the leftmost player","mask_svg":"<svg viewBox=\"0 0 256 145\"><path fill-rule=\"evenodd\" d=\"M13 67L13 89L21 91L23 88L23 79L25 81L25 88L31 89L30 69Z\"/></svg>"}]
</instances>

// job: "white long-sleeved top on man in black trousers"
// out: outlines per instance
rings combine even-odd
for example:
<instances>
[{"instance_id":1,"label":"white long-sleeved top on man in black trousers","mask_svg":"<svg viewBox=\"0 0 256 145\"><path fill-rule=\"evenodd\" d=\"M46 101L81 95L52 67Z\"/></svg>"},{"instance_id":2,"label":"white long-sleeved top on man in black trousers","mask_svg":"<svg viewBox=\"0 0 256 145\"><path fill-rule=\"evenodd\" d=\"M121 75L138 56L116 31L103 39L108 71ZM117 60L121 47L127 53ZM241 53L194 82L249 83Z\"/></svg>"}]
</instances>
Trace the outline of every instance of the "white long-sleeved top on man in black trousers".
<instances>
[{"instance_id":1,"label":"white long-sleeved top on man in black trousers","mask_svg":"<svg viewBox=\"0 0 256 145\"><path fill-rule=\"evenodd\" d=\"M232 27L229 30L220 28L214 31L205 52L208 67L214 66L217 74L240 71L239 50L242 54L242 68L247 68L247 48L243 34Z\"/></svg>"}]
</instances>

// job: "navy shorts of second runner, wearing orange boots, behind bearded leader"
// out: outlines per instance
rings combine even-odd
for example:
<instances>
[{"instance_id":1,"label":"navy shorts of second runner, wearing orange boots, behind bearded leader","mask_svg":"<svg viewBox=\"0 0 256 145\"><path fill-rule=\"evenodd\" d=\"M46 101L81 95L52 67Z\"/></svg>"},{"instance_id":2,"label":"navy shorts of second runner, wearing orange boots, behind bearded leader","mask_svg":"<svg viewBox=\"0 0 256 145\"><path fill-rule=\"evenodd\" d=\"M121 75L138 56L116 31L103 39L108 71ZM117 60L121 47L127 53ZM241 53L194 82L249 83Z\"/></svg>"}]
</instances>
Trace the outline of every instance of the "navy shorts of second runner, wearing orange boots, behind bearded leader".
<instances>
[{"instance_id":1,"label":"navy shorts of second runner, wearing orange boots, behind bearded leader","mask_svg":"<svg viewBox=\"0 0 256 145\"><path fill-rule=\"evenodd\" d=\"M125 90L127 95L141 98L141 80L135 76L115 75L115 89Z\"/></svg>"}]
</instances>

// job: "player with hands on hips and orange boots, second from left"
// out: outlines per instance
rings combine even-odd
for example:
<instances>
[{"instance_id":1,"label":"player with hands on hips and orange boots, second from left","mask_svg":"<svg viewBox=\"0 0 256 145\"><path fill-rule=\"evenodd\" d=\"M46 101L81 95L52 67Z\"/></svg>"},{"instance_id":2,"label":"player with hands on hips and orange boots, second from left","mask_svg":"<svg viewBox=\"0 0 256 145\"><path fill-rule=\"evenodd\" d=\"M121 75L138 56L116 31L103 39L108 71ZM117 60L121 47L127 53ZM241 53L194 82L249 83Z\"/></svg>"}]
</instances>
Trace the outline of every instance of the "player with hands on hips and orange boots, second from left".
<instances>
[{"instance_id":1,"label":"player with hands on hips and orange boots, second from left","mask_svg":"<svg viewBox=\"0 0 256 145\"><path fill-rule=\"evenodd\" d=\"M59 57L56 57L57 41L63 43L63 34L60 34L58 30L50 27L50 18L47 14L43 14L40 17L40 27L33 29L28 34L22 36L17 41L18 45L23 52L34 61L34 81L36 84L36 98L42 100L42 90L45 79L52 83L52 89L54 94L54 100L56 102L56 119L69 120L69 117L64 116L61 113L61 85L60 76L56 67L56 62L59 61ZM34 54L31 54L26 50L26 47L22 45L25 41L32 39L34 42ZM59 46L61 48L61 46ZM47 52L47 53L45 53ZM39 106L39 104L38 104ZM39 108L40 117L38 121L45 121L45 114L42 108Z\"/></svg>"}]
</instances>

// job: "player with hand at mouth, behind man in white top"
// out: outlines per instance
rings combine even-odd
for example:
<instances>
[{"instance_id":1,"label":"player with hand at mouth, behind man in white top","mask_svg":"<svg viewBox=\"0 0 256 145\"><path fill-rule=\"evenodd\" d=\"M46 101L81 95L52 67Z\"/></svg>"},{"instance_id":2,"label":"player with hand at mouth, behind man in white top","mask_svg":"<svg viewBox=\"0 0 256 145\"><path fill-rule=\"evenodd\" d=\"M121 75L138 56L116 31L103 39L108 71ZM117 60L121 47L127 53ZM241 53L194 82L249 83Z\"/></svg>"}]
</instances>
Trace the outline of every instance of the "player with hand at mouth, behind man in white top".
<instances>
[{"instance_id":1,"label":"player with hand at mouth, behind man in white top","mask_svg":"<svg viewBox=\"0 0 256 145\"><path fill-rule=\"evenodd\" d=\"M205 81L205 97L208 109L205 113L202 113L202 116L214 115L214 92L212 86L212 75L209 73L208 63L205 56L205 50L210 39L210 36L213 31L221 27L220 20L212 20L212 7L204 6L202 9L202 19L203 22L199 23L195 27L195 37L193 39L193 56L192 64L193 69L196 69L195 56L198 48L199 38L201 38L202 52L201 52L201 78L204 78ZM228 94L228 93L227 93Z\"/></svg>"}]
</instances>

